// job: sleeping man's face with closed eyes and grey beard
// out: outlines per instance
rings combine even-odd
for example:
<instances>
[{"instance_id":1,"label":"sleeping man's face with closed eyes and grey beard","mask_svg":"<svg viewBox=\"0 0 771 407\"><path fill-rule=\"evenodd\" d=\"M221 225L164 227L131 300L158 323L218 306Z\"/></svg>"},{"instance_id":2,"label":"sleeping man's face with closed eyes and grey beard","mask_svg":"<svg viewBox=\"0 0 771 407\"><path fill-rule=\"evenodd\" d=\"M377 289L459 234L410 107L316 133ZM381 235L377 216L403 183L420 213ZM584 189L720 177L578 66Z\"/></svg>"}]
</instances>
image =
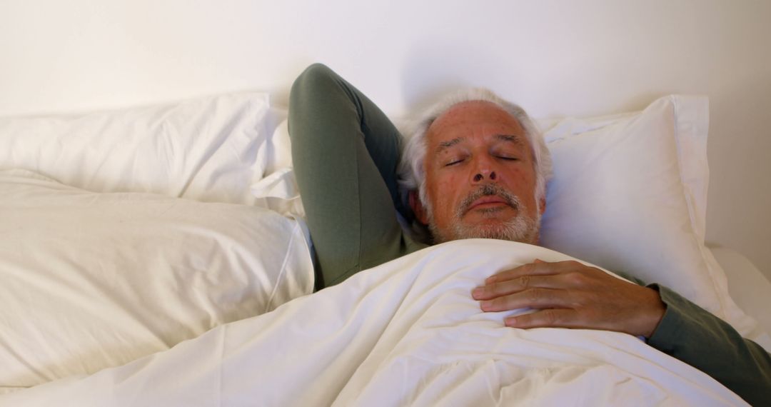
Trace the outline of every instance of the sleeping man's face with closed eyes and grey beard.
<instances>
[{"instance_id":1,"label":"sleeping man's face with closed eyes and grey beard","mask_svg":"<svg viewBox=\"0 0 771 407\"><path fill-rule=\"evenodd\" d=\"M430 210L416 212L437 242L490 237L537 243L545 202L536 204L533 154L517 119L493 103L459 103L426 137Z\"/></svg>"}]
</instances>

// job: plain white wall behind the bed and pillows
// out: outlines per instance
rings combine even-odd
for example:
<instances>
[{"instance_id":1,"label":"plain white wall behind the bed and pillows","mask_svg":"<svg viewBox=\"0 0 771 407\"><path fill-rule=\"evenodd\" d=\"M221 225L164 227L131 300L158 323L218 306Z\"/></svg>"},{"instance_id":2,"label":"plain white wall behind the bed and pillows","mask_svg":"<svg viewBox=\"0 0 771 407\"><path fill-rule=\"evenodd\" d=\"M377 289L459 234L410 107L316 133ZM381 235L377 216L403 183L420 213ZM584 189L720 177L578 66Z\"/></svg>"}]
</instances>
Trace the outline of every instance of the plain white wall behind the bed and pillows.
<instances>
[{"instance_id":1,"label":"plain white wall behind the bed and pillows","mask_svg":"<svg viewBox=\"0 0 771 407\"><path fill-rule=\"evenodd\" d=\"M771 278L771 2L0 0L0 115L236 89L325 62L387 113L457 85L533 116L711 100L707 235Z\"/></svg>"}]
</instances>

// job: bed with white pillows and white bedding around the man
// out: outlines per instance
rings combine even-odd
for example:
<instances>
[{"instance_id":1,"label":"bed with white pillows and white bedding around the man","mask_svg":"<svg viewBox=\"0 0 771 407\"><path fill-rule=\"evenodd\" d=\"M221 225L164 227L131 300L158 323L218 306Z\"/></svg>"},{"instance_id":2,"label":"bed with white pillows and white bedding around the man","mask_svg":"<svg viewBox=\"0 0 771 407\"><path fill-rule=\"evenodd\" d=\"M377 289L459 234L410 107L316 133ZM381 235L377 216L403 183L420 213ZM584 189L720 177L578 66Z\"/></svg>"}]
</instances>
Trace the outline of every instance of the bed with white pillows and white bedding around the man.
<instances>
[{"instance_id":1,"label":"bed with white pillows and white bedding around the man","mask_svg":"<svg viewBox=\"0 0 771 407\"><path fill-rule=\"evenodd\" d=\"M771 282L705 246L704 96L540 120L543 247L450 242L315 294L286 115L247 92L0 118L0 405L743 404L638 338L503 328L524 310L470 298L578 259L771 350Z\"/></svg>"}]
</instances>

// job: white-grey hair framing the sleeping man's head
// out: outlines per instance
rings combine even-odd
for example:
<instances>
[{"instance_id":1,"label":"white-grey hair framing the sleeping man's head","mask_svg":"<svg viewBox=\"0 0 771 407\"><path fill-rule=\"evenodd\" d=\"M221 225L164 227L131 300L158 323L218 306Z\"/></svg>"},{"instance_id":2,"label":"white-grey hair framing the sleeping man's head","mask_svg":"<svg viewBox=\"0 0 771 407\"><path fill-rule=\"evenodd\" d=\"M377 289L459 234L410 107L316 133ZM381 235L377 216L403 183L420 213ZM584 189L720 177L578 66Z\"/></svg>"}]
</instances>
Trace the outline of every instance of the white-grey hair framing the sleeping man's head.
<instances>
[{"instance_id":1,"label":"white-grey hair framing the sleeping man's head","mask_svg":"<svg viewBox=\"0 0 771 407\"><path fill-rule=\"evenodd\" d=\"M507 102L488 89L471 88L462 89L456 93L440 99L439 102L426 109L426 111L412 124L412 130L407 132L407 140L402 150L402 159L399 162L399 189L402 190L402 201L406 202L406 193L410 190L418 190L420 202L431 210L426 193L426 173L423 169L423 161L426 159L428 142L426 133L429 127L453 106L482 100L500 107L520 123L527 140L530 142L533 153L534 170L536 173L535 197L536 202L546 197L546 183L551 178L551 156L544 141L544 136L537 129L533 120L520 106ZM415 227L416 225L413 225Z\"/></svg>"}]
</instances>

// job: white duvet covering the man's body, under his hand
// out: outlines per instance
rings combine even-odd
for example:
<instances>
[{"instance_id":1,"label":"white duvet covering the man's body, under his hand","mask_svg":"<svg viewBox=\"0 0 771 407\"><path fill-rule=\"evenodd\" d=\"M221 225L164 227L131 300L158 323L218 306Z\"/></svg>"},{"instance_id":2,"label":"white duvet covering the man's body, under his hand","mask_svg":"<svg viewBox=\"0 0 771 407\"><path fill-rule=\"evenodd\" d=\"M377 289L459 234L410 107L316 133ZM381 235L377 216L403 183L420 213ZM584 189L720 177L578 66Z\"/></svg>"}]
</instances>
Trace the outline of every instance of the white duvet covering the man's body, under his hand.
<instances>
[{"instance_id":1,"label":"white duvet covering the man's body, under his hand","mask_svg":"<svg viewBox=\"0 0 771 407\"><path fill-rule=\"evenodd\" d=\"M631 335L503 326L470 291L507 267L567 260L456 241L363 271L268 314L214 328L0 405L744 405Z\"/></svg>"}]
</instances>

